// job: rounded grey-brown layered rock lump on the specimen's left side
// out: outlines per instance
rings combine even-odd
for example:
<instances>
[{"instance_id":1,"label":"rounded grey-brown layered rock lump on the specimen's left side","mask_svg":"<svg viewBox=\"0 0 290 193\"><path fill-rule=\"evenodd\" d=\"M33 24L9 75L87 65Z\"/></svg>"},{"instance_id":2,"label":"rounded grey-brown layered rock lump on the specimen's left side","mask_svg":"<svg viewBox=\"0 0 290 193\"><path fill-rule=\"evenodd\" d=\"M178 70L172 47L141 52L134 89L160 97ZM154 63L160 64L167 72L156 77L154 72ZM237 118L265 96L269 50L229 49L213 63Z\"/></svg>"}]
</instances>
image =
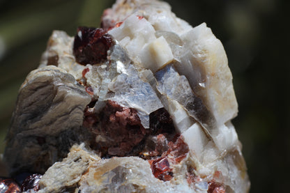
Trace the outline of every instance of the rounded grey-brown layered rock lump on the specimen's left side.
<instances>
[{"instance_id":1,"label":"rounded grey-brown layered rock lump on the specimen's left side","mask_svg":"<svg viewBox=\"0 0 290 193\"><path fill-rule=\"evenodd\" d=\"M78 142L91 97L66 70L33 70L20 88L5 151L10 173L44 173Z\"/></svg>"}]
</instances>

